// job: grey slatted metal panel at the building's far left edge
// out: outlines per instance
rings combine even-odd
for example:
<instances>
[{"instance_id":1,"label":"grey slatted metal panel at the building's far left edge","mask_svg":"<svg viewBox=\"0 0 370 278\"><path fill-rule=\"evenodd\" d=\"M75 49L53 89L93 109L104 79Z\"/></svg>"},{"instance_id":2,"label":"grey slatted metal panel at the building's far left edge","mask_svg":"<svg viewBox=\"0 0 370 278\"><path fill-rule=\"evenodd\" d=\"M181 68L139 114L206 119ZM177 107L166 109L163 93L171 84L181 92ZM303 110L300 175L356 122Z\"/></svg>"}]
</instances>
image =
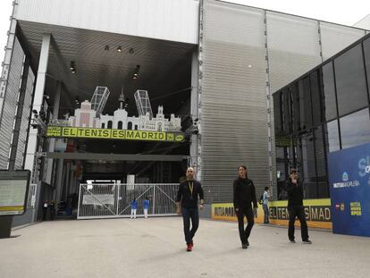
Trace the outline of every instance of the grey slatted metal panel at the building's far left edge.
<instances>
[{"instance_id":1,"label":"grey slatted metal panel at the building's far left edge","mask_svg":"<svg viewBox=\"0 0 370 278\"><path fill-rule=\"evenodd\" d=\"M18 38L13 45L12 62L8 75L8 85L4 94L3 116L0 122L0 169L7 169L23 70L24 52Z\"/></svg>"}]
</instances>

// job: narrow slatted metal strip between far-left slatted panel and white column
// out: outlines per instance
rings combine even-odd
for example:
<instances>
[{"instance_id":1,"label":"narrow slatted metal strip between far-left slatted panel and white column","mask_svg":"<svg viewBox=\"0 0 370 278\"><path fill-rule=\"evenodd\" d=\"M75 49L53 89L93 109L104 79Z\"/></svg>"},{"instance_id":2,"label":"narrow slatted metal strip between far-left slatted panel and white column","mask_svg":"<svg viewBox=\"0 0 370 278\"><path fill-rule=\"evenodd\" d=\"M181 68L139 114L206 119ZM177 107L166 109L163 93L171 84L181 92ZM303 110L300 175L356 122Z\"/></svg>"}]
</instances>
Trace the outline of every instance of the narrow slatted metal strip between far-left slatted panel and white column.
<instances>
[{"instance_id":1,"label":"narrow slatted metal strip between far-left slatted panel and white column","mask_svg":"<svg viewBox=\"0 0 370 278\"><path fill-rule=\"evenodd\" d=\"M21 115L21 130L17 145L17 154L15 156L15 169L23 169L23 161L26 156L26 143L29 129L29 114L32 107L32 94L35 82L35 74L29 69L29 76L27 78L27 86L24 97L23 112Z\"/></svg>"}]
</instances>

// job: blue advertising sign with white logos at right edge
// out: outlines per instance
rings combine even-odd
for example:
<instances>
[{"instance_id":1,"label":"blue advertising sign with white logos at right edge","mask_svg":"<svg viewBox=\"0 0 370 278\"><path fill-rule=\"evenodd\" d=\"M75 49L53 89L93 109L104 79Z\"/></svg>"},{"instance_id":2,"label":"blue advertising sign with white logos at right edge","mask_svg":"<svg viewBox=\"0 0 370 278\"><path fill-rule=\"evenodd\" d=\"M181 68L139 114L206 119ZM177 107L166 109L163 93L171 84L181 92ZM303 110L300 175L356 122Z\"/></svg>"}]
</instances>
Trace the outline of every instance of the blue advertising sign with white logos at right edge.
<instances>
[{"instance_id":1,"label":"blue advertising sign with white logos at right edge","mask_svg":"<svg viewBox=\"0 0 370 278\"><path fill-rule=\"evenodd\" d=\"M332 232L370 237L370 144L329 153Z\"/></svg>"}]
</instances>

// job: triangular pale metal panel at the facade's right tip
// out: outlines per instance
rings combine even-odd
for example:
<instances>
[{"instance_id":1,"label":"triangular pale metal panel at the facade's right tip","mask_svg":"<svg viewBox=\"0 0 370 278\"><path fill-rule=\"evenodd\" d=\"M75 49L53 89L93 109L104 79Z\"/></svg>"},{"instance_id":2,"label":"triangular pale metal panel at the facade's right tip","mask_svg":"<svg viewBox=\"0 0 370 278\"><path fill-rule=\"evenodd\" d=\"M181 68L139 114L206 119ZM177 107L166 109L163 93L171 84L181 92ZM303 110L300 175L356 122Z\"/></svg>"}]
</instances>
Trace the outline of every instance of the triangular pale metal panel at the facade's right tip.
<instances>
[{"instance_id":1,"label":"triangular pale metal panel at the facade's right tip","mask_svg":"<svg viewBox=\"0 0 370 278\"><path fill-rule=\"evenodd\" d=\"M350 44L366 35L364 29L320 22L324 60L337 54Z\"/></svg>"}]
</instances>

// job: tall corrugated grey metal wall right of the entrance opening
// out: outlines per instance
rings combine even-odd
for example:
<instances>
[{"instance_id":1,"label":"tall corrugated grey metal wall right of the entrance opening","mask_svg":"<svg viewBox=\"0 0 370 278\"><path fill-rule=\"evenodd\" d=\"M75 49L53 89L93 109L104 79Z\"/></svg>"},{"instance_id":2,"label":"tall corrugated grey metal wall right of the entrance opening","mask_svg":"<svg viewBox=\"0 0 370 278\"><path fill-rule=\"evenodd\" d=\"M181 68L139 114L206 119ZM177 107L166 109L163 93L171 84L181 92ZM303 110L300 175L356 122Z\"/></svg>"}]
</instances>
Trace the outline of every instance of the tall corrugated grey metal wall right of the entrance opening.
<instances>
[{"instance_id":1,"label":"tall corrugated grey metal wall right of the entrance opening","mask_svg":"<svg viewBox=\"0 0 370 278\"><path fill-rule=\"evenodd\" d=\"M205 0L203 14L201 169L206 197L232 200L238 164L247 164L258 197L270 185L266 72L267 91L273 94L365 31L215 0ZM332 39L337 36L341 39ZM274 146L273 129L272 135Z\"/></svg>"}]
</instances>

